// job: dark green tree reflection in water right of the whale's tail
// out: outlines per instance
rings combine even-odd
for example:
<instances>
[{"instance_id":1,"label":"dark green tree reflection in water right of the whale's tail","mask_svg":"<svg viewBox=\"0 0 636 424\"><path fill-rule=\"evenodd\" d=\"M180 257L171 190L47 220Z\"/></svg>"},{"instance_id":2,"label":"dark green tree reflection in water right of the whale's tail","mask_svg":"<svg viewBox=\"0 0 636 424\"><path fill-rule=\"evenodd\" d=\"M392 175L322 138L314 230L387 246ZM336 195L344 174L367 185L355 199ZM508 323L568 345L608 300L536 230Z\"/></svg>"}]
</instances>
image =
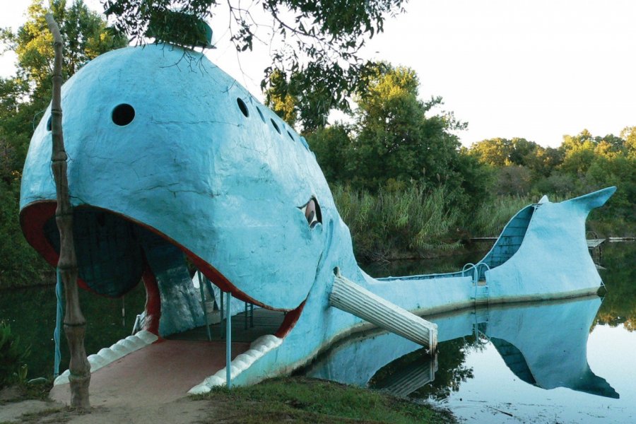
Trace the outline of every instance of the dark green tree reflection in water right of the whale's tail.
<instances>
[{"instance_id":1,"label":"dark green tree reflection in water right of the whale's tail","mask_svg":"<svg viewBox=\"0 0 636 424\"><path fill-rule=\"evenodd\" d=\"M601 278L607 288L596 324L636 330L636 243L612 243L603 249ZM592 326L594 329L594 326ZM590 329L590 331L592 330Z\"/></svg>"}]
</instances>

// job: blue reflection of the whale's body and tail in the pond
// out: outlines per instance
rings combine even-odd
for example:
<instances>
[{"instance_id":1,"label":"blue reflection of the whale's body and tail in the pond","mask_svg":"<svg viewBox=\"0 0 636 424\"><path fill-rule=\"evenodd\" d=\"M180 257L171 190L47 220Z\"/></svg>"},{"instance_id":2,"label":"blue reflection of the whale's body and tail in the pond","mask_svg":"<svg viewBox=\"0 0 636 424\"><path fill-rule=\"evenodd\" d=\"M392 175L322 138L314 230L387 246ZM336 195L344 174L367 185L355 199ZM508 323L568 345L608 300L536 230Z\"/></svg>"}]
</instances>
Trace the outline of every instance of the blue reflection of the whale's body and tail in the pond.
<instances>
[{"instance_id":1,"label":"blue reflection of the whale's body and tail in the pond","mask_svg":"<svg viewBox=\"0 0 636 424\"><path fill-rule=\"evenodd\" d=\"M526 383L618 398L616 390L594 375L587 363L589 329L600 306L601 299L591 297L428 318L438 325L440 342L472 334L485 336L507 367ZM338 343L308 367L307 375L360 386L373 378L374 387L406 396L431 382L437 370L435 358L426 355L418 356L417 363L404 363L418 349L416 343L394 334L367 332ZM444 353L443 345L440 351Z\"/></svg>"}]
</instances>

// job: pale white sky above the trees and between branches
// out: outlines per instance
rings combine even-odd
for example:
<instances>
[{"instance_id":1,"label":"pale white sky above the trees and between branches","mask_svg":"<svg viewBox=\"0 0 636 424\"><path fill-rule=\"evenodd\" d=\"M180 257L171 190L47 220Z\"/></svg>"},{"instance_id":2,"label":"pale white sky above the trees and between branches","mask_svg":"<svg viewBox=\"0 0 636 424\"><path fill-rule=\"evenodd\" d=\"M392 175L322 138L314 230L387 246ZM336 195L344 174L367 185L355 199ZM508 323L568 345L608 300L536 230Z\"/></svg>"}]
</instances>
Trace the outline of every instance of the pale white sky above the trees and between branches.
<instances>
[{"instance_id":1,"label":"pale white sky above the trees and between branches","mask_svg":"<svg viewBox=\"0 0 636 424\"><path fill-rule=\"evenodd\" d=\"M28 4L0 0L0 27L18 28ZM442 96L443 110L468 122L465 146L524 137L556 147L583 129L618 136L636 126L635 22L632 0L412 0L362 54L413 68L420 98ZM223 13L211 21L218 43L206 56L262 100L269 47L237 55L227 23ZM0 57L0 76L14 60Z\"/></svg>"}]
</instances>

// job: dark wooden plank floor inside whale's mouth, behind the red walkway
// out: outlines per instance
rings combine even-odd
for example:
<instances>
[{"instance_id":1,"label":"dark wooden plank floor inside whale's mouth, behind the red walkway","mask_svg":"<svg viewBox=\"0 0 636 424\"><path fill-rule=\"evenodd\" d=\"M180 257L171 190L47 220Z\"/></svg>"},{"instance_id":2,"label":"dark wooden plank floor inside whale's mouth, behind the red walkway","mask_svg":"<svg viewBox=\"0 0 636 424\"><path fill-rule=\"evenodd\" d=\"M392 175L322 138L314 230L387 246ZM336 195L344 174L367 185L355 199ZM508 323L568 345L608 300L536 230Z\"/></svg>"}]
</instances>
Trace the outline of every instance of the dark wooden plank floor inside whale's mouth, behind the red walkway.
<instances>
[{"instance_id":1,"label":"dark wooden plank floor inside whale's mouth, behind the red walkway","mask_svg":"<svg viewBox=\"0 0 636 424\"><path fill-rule=\"evenodd\" d=\"M250 319L249 312L232 317L232 342L250 343L260 336L274 334L283 324L285 312L271 311L263 308L254 309L254 317ZM253 324L253 326L252 326ZM225 321L221 324L211 324L210 331L213 341L225 340ZM208 333L205 326L197 327L183 333L173 334L169 340L207 341Z\"/></svg>"}]
</instances>

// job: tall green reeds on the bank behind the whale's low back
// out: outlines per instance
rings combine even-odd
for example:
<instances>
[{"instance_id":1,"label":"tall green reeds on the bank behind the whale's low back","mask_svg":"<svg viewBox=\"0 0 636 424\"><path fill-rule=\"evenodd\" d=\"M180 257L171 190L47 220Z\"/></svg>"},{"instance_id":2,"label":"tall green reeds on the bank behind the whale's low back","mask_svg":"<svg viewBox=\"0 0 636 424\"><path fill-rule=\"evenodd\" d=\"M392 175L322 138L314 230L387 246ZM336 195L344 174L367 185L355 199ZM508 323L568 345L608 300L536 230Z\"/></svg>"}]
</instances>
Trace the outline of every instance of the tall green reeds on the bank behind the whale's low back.
<instances>
[{"instance_id":1,"label":"tall green reeds on the bank behind the whale's low back","mask_svg":"<svg viewBox=\"0 0 636 424\"><path fill-rule=\"evenodd\" d=\"M496 237L514 213L538 201L530 195L458 199L443 186L372 194L338 184L332 192L361 261L435 257L470 237Z\"/></svg>"}]
</instances>

